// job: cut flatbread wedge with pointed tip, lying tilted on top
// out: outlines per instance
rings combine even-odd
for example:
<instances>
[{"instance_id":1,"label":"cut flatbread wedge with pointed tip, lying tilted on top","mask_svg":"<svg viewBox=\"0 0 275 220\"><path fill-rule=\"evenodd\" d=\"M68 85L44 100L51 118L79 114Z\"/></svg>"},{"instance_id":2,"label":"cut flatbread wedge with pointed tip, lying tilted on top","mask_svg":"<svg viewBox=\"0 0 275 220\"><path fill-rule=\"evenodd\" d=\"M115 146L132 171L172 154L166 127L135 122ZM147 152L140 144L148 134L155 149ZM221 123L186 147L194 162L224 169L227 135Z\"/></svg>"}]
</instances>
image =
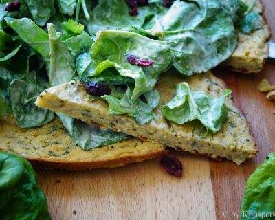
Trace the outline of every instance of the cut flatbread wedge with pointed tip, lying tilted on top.
<instances>
[{"instance_id":1,"label":"cut flatbread wedge with pointed tip, lying tilted on top","mask_svg":"<svg viewBox=\"0 0 275 220\"><path fill-rule=\"evenodd\" d=\"M138 124L126 115L109 115L107 102L88 98L85 85L79 81L45 90L39 95L36 104L39 107L95 124L103 129L109 127L115 131L122 131L142 140L159 142L180 151L208 155L214 159L225 157L236 164L241 164L245 159L253 157L257 150L250 126L243 118L241 111L234 107L230 98L226 100L229 120L223 125L221 131L214 135L210 133L202 138L199 122L178 125L165 120L161 107L173 98L175 87L182 81L189 83L192 90L205 91L211 97L220 96L225 89L223 81L214 77L210 72L188 78L166 72L162 74L156 86L161 98L159 106L154 110L157 120L152 120L145 125Z\"/></svg>"}]
</instances>

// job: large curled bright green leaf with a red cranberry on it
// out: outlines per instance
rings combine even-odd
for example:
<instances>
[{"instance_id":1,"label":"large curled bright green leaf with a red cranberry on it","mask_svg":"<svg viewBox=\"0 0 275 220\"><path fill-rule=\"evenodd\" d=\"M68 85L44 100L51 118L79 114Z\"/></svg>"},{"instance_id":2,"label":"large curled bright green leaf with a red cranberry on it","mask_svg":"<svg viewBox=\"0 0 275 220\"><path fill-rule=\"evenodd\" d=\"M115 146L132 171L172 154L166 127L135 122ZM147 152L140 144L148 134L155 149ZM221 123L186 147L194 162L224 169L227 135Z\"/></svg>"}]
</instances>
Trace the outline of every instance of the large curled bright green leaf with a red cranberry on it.
<instances>
[{"instance_id":1,"label":"large curled bright green leaf with a red cranberry on it","mask_svg":"<svg viewBox=\"0 0 275 220\"><path fill-rule=\"evenodd\" d=\"M127 61L127 55L142 60L153 61L149 67L139 67ZM85 68L78 66L81 76L98 76L109 68L114 68L124 77L133 78L135 87L131 99L151 91L160 73L170 67L170 50L166 42L155 41L133 32L102 30L96 35L91 47L91 62ZM85 63L87 65L87 63Z\"/></svg>"}]
</instances>

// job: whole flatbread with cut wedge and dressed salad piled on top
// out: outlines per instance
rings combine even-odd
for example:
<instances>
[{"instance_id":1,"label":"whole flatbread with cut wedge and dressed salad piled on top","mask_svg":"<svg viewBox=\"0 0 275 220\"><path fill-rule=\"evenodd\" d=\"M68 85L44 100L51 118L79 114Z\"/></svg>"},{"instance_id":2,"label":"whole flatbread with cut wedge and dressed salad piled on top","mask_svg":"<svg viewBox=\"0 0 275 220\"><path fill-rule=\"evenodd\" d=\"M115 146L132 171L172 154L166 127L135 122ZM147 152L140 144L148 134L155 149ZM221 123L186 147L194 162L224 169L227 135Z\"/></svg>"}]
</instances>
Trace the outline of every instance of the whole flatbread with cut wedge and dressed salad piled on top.
<instances>
[{"instance_id":1,"label":"whole flatbread with cut wedge and dressed salad piled on top","mask_svg":"<svg viewBox=\"0 0 275 220\"><path fill-rule=\"evenodd\" d=\"M256 72L235 52L259 32L263 67L269 33L259 2L248 3L1 1L0 150L70 169L167 146L236 164L253 157L248 122L209 72L240 70L230 59Z\"/></svg>"}]
</instances>

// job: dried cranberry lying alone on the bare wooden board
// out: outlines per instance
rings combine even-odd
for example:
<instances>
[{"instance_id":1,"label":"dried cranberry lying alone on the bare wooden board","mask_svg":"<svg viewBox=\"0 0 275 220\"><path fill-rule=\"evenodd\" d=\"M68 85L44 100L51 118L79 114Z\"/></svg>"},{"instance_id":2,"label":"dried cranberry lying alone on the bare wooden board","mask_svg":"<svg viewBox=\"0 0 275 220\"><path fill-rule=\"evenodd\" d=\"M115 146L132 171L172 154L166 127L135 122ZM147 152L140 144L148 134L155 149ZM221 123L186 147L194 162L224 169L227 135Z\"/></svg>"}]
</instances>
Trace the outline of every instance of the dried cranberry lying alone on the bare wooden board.
<instances>
[{"instance_id":1,"label":"dried cranberry lying alone on the bare wooden board","mask_svg":"<svg viewBox=\"0 0 275 220\"><path fill-rule=\"evenodd\" d=\"M175 177L181 177L182 164L176 157L164 155L160 159L160 164L164 167L167 173Z\"/></svg>"}]
</instances>

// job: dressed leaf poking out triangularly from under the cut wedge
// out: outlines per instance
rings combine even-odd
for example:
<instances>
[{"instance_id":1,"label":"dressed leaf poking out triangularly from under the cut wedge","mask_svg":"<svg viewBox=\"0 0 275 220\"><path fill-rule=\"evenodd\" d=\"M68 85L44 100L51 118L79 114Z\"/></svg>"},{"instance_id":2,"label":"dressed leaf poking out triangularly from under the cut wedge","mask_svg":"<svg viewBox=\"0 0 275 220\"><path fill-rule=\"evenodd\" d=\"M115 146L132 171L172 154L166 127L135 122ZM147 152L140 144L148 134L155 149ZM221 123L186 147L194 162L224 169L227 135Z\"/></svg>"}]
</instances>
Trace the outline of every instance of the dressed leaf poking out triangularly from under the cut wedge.
<instances>
[{"instance_id":1,"label":"dressed leaf poking out triangularly from under the cut wedge","mask_svg":"<svg viewBox=\"0 0 275 220\"><path fill-rule=\"evenodd\" d=\"M92 148L106 146L129 139L129 135L121 132L115 132L111 129L101 130L97 126L87 124L80 120L67 117L58 113L58 118L63 122L65 128L69 131L74 141L83 150L88 151Z\"/></svg>"}]
</instances>

